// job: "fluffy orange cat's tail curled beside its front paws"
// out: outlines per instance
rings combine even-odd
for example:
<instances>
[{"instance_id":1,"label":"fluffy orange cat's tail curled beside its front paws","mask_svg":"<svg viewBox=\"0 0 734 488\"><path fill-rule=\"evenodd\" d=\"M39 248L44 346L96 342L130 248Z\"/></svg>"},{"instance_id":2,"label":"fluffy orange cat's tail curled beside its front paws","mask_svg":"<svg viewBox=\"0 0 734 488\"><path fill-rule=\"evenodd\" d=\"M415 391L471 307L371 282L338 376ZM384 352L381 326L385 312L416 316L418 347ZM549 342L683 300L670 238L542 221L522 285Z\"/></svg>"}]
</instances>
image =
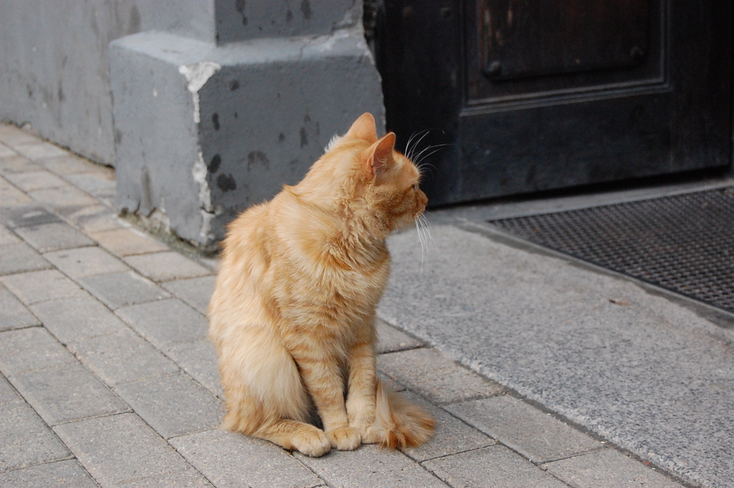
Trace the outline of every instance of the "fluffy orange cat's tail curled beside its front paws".
<instances>
[{"instance_id":1,"label":"fluffy orange cat's tail curled beside its front paws","mask_svg":"<svg viewBox=\"0 0 734 488\"><path fill-rule=\"evenodd\" d=\"M375 427L383 446L404 449L421 445L433 435L435 425L424 409L385 390L377 380Z\"/></svg>"}]
</instances>

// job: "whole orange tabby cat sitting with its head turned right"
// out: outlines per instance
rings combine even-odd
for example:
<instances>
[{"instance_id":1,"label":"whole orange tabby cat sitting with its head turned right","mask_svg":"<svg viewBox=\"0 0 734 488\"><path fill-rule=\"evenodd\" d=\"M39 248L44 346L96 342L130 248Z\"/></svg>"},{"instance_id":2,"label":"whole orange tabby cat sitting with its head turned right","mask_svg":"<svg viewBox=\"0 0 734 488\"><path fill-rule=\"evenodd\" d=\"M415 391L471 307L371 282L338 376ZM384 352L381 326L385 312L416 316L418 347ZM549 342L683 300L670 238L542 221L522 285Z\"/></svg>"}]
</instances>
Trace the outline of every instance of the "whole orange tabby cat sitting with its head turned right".
<instances>
[{"instance_id":1,"label":"whole orange tabby cat sitting with its head turned right","mask_svg":"<svg viewBox=\"0 0 734 488\"><path fill-rule=\"evenodd\" d=\"M431 436L432 418L375 376L385 238L427 202L394 144L363 114L303 181L230 225L209 305L225 428L310 456ZM309 423L313 407L323 430Z\"/></svg>"}]
</instances>

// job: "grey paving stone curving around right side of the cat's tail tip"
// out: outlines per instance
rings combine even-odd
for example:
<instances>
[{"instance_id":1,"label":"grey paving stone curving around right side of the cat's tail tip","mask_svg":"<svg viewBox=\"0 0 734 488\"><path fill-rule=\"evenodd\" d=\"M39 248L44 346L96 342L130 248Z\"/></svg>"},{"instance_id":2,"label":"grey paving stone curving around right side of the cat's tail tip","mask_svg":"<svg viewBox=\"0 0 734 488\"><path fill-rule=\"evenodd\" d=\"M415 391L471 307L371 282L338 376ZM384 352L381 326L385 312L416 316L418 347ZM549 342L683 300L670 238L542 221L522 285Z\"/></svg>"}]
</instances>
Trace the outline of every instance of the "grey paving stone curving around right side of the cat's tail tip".
<instances>
[{"instance_id":1,"label":"grey paving stone curving around right side of the cat's tail tip","mask_svg":"<svg viewBox=\"0 0 734 488\"><path fill-rule=\"evenodd\" d=\"M414 404L423 407L436 420L435 434L427 443L417 448L407 448L405 450L405 454L410 458L420 462L495 445L495 440L492 438L468 426L445 410L429 404L417 395L413 393L401 393L401 395Z\"/></svg>"}]
</instances>

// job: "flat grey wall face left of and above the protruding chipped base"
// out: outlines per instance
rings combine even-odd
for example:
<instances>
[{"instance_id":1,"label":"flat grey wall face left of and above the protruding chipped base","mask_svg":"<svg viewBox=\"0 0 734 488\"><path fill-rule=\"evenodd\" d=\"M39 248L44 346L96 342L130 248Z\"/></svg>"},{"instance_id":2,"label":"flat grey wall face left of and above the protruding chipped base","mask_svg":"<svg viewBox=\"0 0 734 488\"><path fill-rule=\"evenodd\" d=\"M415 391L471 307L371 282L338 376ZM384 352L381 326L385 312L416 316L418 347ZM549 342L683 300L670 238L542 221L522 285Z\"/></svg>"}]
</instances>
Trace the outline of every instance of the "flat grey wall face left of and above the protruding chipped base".
<instances>
[{"instance_id":1,"label":"flat grey wall face left of and above the protruding chipped base","mask_svg":"<svg viewBox=\"0 0 734 488\"><path fill-rule=\"evenodd\" d=\"M1 0L0 120L115 164L108 45L167 30L214 41L214 0Z\"/></svg>"}]
</instances>

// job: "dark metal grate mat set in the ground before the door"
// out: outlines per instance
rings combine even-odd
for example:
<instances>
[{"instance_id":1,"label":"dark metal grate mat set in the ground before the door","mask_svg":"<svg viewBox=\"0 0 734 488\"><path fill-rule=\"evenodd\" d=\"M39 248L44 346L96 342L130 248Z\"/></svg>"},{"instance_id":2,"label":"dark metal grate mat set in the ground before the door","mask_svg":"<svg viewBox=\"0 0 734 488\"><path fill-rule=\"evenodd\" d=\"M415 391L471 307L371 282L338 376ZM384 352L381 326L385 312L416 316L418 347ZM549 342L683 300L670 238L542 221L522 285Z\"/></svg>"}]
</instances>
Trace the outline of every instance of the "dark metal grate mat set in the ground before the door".
<instances>
[{"instance_id":1,"label":"dark metal grate mat set in the ground before the door","mask_svg":"<svg viewBox=\"0 0 734 488\"><path fill-rule=\"evenodd\" d=\"M734 312L734 187L490 223Z\"/></svg>"}]
</instances>

